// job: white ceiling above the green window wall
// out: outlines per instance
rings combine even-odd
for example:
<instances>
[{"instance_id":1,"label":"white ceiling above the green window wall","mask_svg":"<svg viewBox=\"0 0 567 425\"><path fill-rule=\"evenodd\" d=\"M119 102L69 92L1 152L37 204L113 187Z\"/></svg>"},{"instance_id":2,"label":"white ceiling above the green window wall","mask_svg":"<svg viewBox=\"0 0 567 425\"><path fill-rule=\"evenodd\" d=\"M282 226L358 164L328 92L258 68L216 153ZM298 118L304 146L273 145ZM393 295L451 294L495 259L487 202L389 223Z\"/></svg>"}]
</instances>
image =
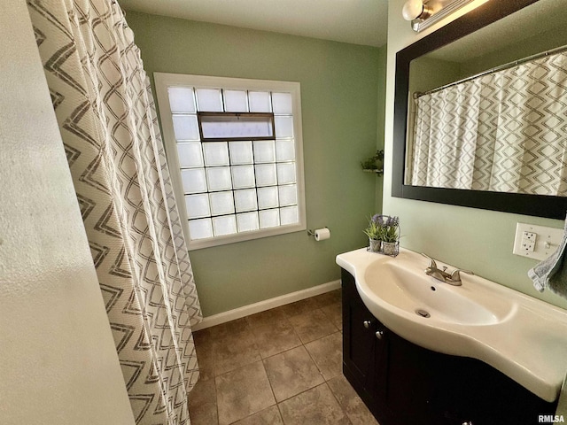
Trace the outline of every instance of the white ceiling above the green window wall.
<instances>
[{"instance_id":1,"label":"white ceiling above the green window wall","mask_svg":"<svg viewBox=\"0 0 567 425\"><path fill-rule=\"evenodd\" d=\"M380 47L388 0L119 0L128 10ZM128 19L128 16L127 16Z\"/></svg>"}]
</instances>

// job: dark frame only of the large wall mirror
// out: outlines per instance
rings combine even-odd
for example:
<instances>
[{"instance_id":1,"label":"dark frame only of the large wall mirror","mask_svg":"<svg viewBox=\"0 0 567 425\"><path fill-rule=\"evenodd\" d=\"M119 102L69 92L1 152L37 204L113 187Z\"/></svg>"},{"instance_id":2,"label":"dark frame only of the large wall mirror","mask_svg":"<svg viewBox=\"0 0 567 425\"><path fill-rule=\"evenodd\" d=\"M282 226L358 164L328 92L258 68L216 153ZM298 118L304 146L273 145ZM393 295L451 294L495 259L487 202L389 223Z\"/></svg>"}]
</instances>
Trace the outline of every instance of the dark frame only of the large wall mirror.
<instances>
[{"instance_id":1,"label":"dark frame only of the large wall mirror","mask_svg":"<svg viewBox=\"0 0 567 425\"><path fill-rule=\"evenodd\" d=\"M469 35L498 19L539 0L493 0L463 15L445 27L400 50L396 55L396 85L393 122L392 197L404 197L449 205L518 213L551 219L565 218L567 197L524 195L464 189L440 189L404 184L408 116L409 64L413 59ZM545 25L542 23L542 25Z\"/></svg>"}]
</instances>

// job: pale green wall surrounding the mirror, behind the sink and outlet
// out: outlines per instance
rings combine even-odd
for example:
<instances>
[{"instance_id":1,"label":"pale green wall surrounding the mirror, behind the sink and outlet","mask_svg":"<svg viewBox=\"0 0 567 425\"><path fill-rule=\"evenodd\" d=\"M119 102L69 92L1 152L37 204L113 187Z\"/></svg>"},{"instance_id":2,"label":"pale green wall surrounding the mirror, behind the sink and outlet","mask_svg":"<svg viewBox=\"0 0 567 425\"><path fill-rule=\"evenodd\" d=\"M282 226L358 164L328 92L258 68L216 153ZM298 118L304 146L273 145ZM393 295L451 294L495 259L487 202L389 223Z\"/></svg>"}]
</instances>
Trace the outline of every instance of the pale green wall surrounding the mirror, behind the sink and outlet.
<instances>
[{"instance_id":1,"label":"pale green wall surrounding the mirror, behind the sink and outlet","mask_svg":"<svg viewBox=\"0 0 567 425\"><path fill-rule=\"evenodd\" d=\"M552 292L533 289L527 271L538 261L524 259L512 254L516 223L532 223L563 228L562 220L542 219L517 214L498 213L453 205L441 205L391 196L392 187L392 128L395 55L412 42L445 25L449 18L414 33L400 11L405 0L391 0L388 12L387 87L385 112L385 166L384 213L400 216L402 230L401 245L410 250L425 252L431 257L446 261L456 267L467 268L475 273L519 290L551 304L567 308L567 300ZM474 6L471 4L470 7ZM467 12L464 7L450 19Z\"/></svg>"}]
</instances>

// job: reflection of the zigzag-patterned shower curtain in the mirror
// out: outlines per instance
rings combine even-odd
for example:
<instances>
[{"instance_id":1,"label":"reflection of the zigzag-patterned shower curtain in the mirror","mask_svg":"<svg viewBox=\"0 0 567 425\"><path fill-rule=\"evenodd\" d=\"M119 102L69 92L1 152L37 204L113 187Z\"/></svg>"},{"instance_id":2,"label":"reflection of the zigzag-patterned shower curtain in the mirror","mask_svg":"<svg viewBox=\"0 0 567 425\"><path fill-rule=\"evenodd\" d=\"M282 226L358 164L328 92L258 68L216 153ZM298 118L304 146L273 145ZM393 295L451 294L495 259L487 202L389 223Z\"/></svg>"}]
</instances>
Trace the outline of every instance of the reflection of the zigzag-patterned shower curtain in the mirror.
<instances>
[{"instance_id":1,"label":"reflection of the zigzag-patterned shower curtain in the mirror","mask_svg":"<svg viewBox=\"0 0 567 425\"><path fill-rule=\"evenodd\" d=\"M567 52L416 99L411 184L567 196Z\"/></svg>"}]
</instances>

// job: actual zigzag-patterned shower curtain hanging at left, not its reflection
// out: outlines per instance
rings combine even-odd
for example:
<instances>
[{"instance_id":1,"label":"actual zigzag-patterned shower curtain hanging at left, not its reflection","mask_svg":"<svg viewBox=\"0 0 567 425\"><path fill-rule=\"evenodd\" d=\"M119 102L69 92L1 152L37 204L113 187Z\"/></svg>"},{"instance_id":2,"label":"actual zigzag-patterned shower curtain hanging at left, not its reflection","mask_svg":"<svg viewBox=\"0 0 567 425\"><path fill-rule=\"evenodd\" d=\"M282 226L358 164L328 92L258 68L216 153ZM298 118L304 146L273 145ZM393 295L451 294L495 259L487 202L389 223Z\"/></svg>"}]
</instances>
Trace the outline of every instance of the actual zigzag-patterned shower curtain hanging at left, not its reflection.
<instances>
[{"instance_id":1,"label":"actual zigzag-patterned shower curtain hanging at left, not its reflection","mask_svg":"<svg viewBox=\"0 0 567 425\"><path fill-rule=\"evenodd\" d=\"M27 5L136 423L189 424L202 317L140 52L112 0Z\"/></svg>"}]
</instances>

